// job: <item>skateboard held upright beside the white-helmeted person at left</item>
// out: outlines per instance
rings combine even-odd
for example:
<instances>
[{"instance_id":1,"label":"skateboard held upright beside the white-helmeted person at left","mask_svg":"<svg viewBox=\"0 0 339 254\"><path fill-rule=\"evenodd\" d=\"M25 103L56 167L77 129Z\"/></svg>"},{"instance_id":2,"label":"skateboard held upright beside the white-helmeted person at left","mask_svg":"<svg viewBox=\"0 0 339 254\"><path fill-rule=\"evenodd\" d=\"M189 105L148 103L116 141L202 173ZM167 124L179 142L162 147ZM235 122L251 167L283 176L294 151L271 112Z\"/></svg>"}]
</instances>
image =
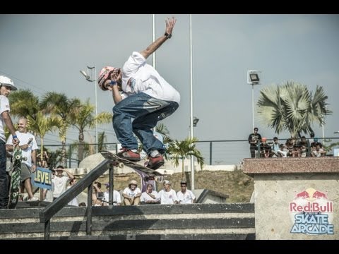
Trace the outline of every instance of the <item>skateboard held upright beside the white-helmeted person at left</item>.
<instances>
[{"instance_id":1,"label":"skateboard held upright beside the white-helmeted person at left","mask_svg":"<svg viewBox=\"0 0 339 254\"><path fill-rule=\"evenodd\" d=\"M27 160L27 157L23 157L23 152L21 151L19 145L17 145L13 150L13 169L11 175L11 184L9 187L8 209L16 208L16 204L19 200L21 162L23 160Z\"/></svg>"}]
</instances>

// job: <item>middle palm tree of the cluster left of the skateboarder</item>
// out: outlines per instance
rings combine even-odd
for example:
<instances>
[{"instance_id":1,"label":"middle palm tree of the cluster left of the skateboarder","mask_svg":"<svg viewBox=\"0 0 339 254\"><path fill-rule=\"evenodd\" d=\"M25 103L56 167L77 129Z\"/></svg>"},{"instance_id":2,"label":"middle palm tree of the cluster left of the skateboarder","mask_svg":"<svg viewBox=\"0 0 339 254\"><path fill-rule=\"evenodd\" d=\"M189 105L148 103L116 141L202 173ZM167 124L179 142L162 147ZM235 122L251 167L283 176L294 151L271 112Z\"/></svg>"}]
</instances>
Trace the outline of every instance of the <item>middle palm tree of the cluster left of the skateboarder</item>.
<instances>
[{"instance_id":1,"label":"middle palm tree of the cluster left of the skateboarder","mask_svg":"<svg viewBox=\"0 0 339 254\"><path fill-rule=\"evenodd\" d=\"M66 134L73 123L74 116L78 114L80 99L69 99L64 93L47 92L44 95L41 107L52 116L60 116L62 121L59 130L59 138L61 140L61 164L66 166Z\"/></svg>"}]
</instances>

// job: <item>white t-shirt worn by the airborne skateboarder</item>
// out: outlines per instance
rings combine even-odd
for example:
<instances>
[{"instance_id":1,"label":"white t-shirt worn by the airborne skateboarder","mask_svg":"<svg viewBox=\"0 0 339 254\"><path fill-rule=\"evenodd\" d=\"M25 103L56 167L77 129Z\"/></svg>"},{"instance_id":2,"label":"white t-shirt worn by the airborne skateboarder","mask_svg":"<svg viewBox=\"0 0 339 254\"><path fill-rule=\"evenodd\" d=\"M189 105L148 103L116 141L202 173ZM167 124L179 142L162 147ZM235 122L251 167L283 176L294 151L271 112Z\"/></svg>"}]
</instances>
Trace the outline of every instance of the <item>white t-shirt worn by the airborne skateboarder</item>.
<instances>
[{"instance_id":1,"label":"white t-shirt worn by the airborne skateboarder","mask_svg":"<svg viewBox=\"0 0 339 254\"><path fill-rule=\"evenodd\" d=\"M180 102L180 94L169 85L160 74L145 62L146 59L139 52L133 52L122 68L121 97L124 99L138 92L171 102Z\"/></svg>"}]
</instances>

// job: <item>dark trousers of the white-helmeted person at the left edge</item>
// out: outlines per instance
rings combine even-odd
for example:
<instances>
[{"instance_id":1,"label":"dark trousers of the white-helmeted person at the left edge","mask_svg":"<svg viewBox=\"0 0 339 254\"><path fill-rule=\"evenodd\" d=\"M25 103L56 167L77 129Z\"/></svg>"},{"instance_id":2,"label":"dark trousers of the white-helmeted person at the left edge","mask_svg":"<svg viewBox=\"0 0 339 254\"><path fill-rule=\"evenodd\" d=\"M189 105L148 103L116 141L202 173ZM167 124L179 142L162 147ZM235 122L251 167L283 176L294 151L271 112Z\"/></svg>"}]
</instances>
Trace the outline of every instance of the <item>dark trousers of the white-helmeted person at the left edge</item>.
<instances>
[{"instance_id":1,"label":"dark trousers of the white-helmeted person at the left edge","mask_svg":"<svg viewBox=\"0 0 339 254\"><path fill-rule=\"evenodd\" d=\"M6 174L6 145L0 140L0 209L8 205L8 176Z\"/></svg>"}]
</instances>

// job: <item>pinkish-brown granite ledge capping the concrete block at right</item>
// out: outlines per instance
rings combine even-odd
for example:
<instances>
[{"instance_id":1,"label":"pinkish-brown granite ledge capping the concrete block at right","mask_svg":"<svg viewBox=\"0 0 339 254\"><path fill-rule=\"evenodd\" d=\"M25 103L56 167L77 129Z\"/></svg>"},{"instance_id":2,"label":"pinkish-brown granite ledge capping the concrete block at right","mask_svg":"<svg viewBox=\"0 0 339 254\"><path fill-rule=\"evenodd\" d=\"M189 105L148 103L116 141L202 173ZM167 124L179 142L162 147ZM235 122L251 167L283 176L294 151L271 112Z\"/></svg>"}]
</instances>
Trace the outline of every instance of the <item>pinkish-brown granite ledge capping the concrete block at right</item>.
<instances>
[{"instance_id":1,"label":"pinkish-brown granite ledge capping the concrete block at right","mask_svg":"<svg viewBox=\"0 0 339 254\"><path fill-rule=\"evenodd\" d=\"M339 157L244 159L244 174L339 173Z\"/></svg>"}]
</instances>

